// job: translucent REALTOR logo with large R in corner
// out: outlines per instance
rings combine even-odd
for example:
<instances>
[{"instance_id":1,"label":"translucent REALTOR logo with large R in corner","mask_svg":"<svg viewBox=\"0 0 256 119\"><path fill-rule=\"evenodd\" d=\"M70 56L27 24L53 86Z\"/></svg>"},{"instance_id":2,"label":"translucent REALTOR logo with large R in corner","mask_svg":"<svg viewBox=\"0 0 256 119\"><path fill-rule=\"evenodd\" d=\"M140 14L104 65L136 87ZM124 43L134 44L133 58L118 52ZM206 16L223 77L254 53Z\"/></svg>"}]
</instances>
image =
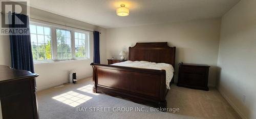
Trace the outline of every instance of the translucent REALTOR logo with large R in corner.
<instances>
[{"instance_id":1,"label":"translucent REALTOR logo with large R in corner","mask_svg":"<svg viewBox=\"0 0 256 119\"><path fill-rule=\"evenodd\" d=\"M29 35L28 1L1 1L1 35ZM18 27L17 27L18 26Z\"/></svg>"}]
</instances>

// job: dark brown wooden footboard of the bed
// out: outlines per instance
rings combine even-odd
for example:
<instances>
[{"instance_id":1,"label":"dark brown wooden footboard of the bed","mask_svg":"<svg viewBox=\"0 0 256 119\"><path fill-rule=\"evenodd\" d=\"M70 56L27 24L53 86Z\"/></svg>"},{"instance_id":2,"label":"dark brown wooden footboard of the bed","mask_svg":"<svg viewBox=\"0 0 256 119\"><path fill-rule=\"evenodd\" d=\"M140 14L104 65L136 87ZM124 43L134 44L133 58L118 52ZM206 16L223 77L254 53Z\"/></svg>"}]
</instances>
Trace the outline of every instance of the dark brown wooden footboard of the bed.
<instances>
[{"instance_id":1,"label":"dark brown wooden footboard of the bed","mask_svg":"<svg viewBox=\"0 0 256 119\"><path fill-rule=\"evenodd\" d=\"M92 63L93 92L120 96L137 103L166 107L165 70Z\"/></svg>"}]
</instances>

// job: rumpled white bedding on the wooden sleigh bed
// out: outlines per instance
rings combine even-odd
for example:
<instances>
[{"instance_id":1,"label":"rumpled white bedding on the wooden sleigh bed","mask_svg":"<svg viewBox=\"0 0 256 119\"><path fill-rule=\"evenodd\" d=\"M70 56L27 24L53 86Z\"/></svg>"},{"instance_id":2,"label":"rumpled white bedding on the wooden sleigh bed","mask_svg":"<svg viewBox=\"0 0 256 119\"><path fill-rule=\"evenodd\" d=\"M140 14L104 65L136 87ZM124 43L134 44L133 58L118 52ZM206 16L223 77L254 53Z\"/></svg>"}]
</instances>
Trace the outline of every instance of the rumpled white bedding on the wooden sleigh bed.
<instances>
[{"instance_id":1,"label":"rumpled white bedding on the wooden sleigh bed","mask_svg":"<svg viewBox=\"0 0 256 119\"><path fill-rule=\"evenodd\" d=\"M172 81L174 76L174 68L170 64L165 63L152 63L146 61L125 61L120 63L112 64L115 66L124 66L124 67L136 67L136 68L145 68L145 69L156 69L156 70L165 70L166 72L166 88L170 89L169 83Z\"/></svg>"}]
</instances>

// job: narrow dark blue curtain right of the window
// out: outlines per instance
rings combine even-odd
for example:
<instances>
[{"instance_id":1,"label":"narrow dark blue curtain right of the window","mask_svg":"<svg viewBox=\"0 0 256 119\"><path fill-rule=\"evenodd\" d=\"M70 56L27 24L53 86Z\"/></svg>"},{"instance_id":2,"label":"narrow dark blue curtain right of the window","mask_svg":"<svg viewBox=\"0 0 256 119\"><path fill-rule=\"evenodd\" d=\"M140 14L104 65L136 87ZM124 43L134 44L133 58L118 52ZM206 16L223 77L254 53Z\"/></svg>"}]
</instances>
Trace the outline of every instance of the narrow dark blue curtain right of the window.
<instances>
[{"instance_id":1,"label":"narrow dark blue curtain right of the window","mask_svg":"<svg viewBox=\"0 0 256 119\"><path fill-rule=\"evenodd\" d=\"M94 41L94 57L93 63L100 64L100 56L99 56L99 32L93 32L93 41Z\"/></svg>"}]
</instances>

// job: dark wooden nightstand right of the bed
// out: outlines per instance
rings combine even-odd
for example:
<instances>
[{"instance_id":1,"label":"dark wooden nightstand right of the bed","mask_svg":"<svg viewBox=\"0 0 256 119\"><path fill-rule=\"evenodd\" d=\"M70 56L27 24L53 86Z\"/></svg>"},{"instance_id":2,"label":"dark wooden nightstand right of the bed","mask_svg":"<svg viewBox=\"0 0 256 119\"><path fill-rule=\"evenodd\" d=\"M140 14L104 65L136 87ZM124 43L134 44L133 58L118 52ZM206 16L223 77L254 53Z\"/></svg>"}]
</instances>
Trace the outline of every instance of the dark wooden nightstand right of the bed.
<instances>
[{"instance_id":1,"label":"dark wooden nightstand right of the bed","mask_svg":"<svg viewBox=\"0 0 256 119\"><path fill-rule=\"evenodd\" d=\"M208 65L179 64L179 78L177 86L209 91Z\"/></svg>"}]
</instances>

